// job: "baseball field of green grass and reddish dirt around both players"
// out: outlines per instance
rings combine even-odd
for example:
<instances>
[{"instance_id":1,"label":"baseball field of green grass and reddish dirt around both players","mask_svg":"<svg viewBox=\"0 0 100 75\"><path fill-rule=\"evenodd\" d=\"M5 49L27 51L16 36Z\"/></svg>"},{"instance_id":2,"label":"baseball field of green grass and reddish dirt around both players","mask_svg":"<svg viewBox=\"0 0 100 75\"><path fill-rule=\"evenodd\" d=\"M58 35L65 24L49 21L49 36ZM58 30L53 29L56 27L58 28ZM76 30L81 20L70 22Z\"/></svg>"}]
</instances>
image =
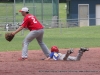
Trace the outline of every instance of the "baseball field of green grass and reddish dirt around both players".
<instances>
[{"instance_id":1,"label":"baseball field of green grass and reddish dirt around both players","mask_svg":"<svg viewBox=\"0 0 100 75\"><path fill-rule=\"evenodd\" d=\"M35 39L29 44L28 59L19 61L22 42L29 31L19 32L8 42L6 31L0 30L0 75L100 75L100 26L45 29L43 40L49 49L56 45L66 53L73 48L71 55L76 56L80 47L89 48L80 61L41 60L45 56Z\"/></svg>"}]
</instances>

